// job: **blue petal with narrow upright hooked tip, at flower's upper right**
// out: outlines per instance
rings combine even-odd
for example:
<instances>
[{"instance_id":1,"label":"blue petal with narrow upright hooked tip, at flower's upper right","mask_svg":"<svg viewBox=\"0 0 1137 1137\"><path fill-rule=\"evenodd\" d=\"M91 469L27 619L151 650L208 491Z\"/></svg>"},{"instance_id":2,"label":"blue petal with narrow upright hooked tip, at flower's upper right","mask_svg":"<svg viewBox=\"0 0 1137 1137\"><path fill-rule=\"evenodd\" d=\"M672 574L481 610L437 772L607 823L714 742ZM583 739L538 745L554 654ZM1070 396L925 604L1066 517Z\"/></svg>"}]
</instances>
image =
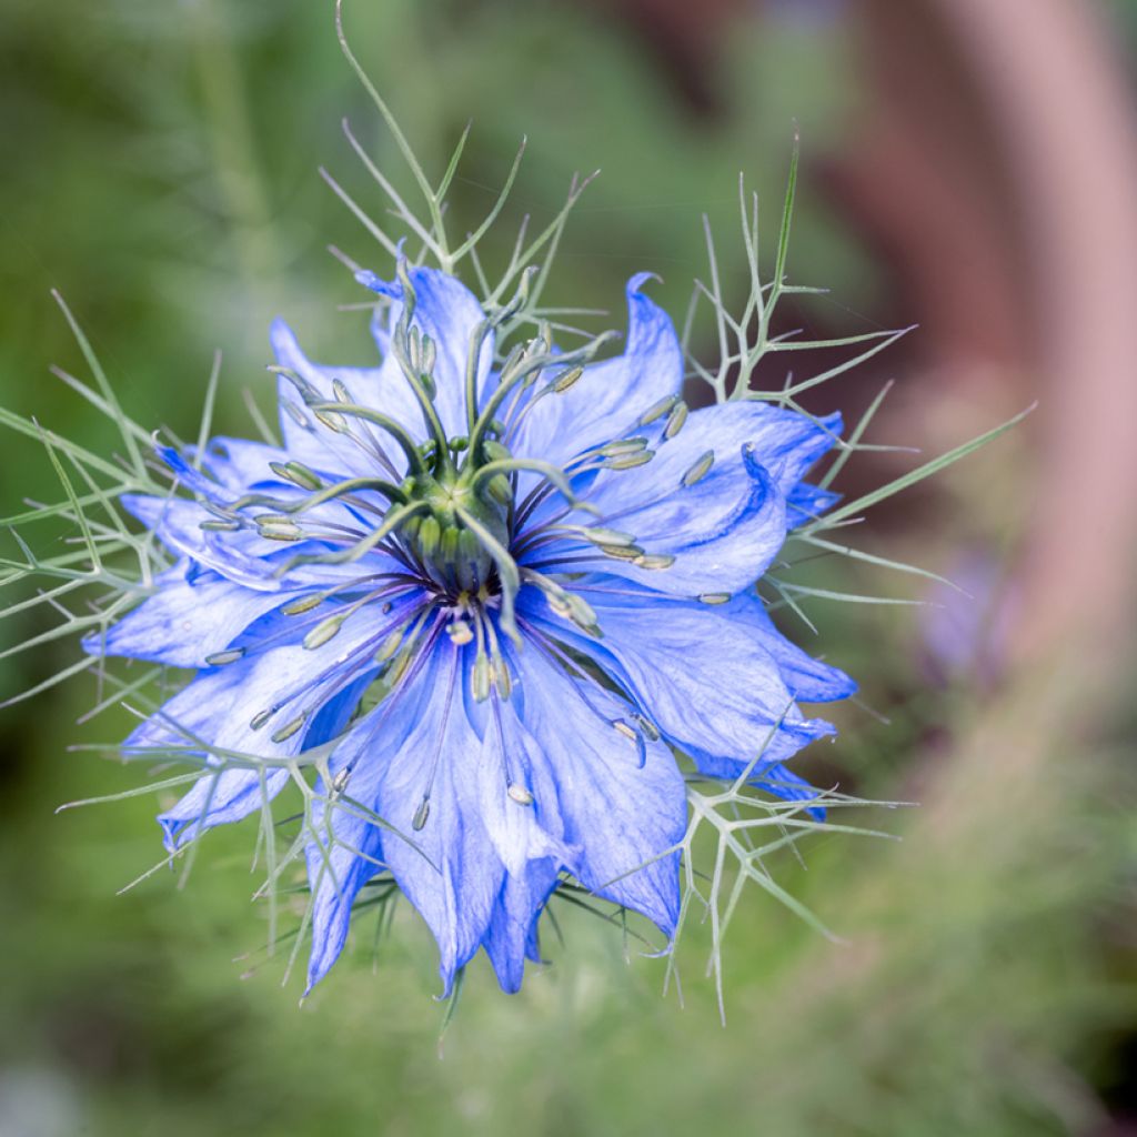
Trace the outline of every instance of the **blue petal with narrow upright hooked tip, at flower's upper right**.
<instances>
[{"instance_id":1,"label":"blue petal with narrow upright hooked tip, at flower's upper right","mask_svg":"<svg viewBox=\"0 0 1137 1137\"><path fill-rule=\"evenodd\" d=\"M564 393L545 396L526 412L513 443L517 454L563 465L592 447L622 438L644 412L683 383L683 352L671 317L628 282L628 343L623 355L584 368Z\"/></svg>"}]
</instances>

